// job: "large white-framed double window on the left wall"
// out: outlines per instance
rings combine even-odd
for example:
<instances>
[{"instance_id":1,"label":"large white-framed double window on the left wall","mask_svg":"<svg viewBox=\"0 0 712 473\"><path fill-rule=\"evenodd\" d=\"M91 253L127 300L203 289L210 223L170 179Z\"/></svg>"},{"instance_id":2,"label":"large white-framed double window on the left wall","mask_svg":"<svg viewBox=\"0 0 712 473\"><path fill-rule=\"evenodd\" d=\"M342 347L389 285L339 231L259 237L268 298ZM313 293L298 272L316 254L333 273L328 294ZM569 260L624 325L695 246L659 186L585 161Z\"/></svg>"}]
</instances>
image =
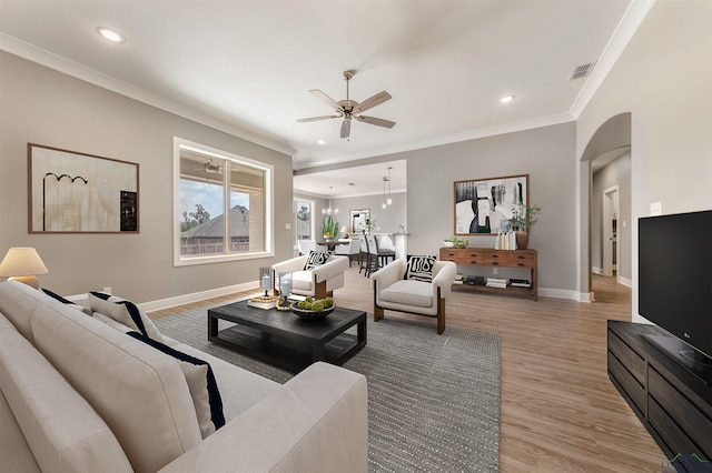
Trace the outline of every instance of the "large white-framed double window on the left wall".
<instances>
[{"instance_id":1,"label":"large white-framed double window on the left wall","mask_svg":"<svg viewBox=\"0 0 712 473\"><path fill-rule=\"evenodd\" d=\"M174 139L174 262L273 255L273 167Z\"/></svg>"}]
</instances>

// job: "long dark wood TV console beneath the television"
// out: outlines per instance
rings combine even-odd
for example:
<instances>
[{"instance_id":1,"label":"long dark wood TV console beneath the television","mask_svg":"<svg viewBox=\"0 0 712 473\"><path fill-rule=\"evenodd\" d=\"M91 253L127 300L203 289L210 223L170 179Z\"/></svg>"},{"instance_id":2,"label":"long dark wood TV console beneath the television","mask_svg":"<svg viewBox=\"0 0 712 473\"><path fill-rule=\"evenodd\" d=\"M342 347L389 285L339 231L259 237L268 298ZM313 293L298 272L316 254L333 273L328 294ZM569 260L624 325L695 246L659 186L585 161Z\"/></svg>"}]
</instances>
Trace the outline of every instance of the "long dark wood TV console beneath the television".
<instances>
[{"instance_id":1,"label":"long dark wood TV console beneath the television","mask_svg":"<svg viewBox=\"0 0 712 473\"><path fill-rule=\"evenodd\" d=\"M666 332L609 321L609 378L668 459L712 461L712 385L650 343L650 335Z\"/></svg>"}]
</instances>

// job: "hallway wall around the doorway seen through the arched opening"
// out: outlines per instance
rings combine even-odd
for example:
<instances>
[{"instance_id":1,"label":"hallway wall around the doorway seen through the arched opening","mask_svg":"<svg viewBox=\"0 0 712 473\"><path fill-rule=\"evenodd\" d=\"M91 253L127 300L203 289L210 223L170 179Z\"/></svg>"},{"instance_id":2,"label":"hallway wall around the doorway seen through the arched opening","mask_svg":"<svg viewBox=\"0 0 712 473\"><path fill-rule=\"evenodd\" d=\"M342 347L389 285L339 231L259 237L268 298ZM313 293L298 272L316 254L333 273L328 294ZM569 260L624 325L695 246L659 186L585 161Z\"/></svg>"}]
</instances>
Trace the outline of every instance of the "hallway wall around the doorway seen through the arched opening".
<instances>
[{"instance_id":1,"label":"hallway wall around the doorway seen through the arched opening","mask_svg":"<svg viewBox=\"0 0 712 473\"><path fill-rule=\"evenodd\" d=\"M593 174L591 193L591 264L603 269L603 191L619 187L617 245L619 261L616 275L631 280L631 155L625 154Z\"/></svg>"}]
</instances>

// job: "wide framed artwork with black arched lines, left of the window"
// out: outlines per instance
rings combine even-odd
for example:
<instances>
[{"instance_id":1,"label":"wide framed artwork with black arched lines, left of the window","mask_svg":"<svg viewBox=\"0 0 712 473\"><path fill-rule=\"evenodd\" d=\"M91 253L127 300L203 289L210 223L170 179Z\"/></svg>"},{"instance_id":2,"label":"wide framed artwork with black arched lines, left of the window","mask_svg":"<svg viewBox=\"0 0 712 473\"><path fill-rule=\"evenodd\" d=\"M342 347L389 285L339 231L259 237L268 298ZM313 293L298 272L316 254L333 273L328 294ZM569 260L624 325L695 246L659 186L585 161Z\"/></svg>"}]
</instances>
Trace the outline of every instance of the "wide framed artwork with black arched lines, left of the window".
<instances>
[{"instance_id":1,"label":"wide framed artwork with black arched lines, left of the window","mask_svg":"<svg viewBox=\"0 0 712 473\"><path fill-rule=\"evenodd\" d=\"M30 233L138 233L138 164L28 144Z\"/></svg>"}]
</instances>

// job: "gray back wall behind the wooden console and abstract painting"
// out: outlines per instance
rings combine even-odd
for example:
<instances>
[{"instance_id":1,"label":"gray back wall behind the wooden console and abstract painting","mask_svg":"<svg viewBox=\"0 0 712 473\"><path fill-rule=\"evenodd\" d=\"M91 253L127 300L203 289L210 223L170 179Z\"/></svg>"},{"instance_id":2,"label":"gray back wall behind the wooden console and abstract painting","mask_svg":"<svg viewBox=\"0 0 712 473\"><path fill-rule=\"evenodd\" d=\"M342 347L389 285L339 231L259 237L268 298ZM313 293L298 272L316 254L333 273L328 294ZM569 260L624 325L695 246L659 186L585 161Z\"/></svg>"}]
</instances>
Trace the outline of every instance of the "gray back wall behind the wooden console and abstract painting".
<instances>
[{"instance_id":1,"label":"gray back wall behind the wooden console and abstract painting","mask_svg":"<svg viewBox=\"0 0 712 473\"><path fill-rule=\"evenodd\" d=\"M407 224L404 227L409 233L411 254L437 254L443 240L453 235L455 181L530 174L530 202L543 209L530 239L530 248L538 251L540 291L545 295L573 299L576 296L574 132L575 124L570 122L382 155L364 160L364 163L407 161ZM402 223L383 215L380 197L374 199L375 205L370 209L380 231L397 230ZM493 236L468 239L471 246L494 248ZM474 273L472 270L461 266L464 273ZM487 270L486 274L492 275L492 272Z\"/></svg>"}]
</instances>

